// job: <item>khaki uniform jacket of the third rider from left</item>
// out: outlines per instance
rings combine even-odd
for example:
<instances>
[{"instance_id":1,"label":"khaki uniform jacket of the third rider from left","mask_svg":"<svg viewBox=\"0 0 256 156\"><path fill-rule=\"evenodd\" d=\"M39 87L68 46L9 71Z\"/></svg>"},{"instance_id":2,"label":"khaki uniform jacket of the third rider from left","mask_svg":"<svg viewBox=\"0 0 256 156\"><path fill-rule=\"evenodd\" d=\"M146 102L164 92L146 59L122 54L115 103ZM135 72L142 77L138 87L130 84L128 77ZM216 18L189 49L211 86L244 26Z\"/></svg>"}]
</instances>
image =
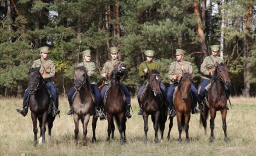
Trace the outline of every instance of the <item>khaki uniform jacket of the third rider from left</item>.
<instances>
[{"instance_id":1,"label":"khaki uniform jacket of the third rider from left","mask_svg":"<svg viewBox=\"0 0 256 156\"><path fill-rule=\"evenodd\" d=\"M101 71L101 75L103 76L103 73L106 73L105 84L110 84L110 81L108 79L109 79L110 73L114 69L115 64L117 63L120 63L120 61L112 59L111 61L106 61L106 63L104 64L103 69ZM120 84L121 84L121 81L120 81Z\"/></svg>"}]
</instances>

